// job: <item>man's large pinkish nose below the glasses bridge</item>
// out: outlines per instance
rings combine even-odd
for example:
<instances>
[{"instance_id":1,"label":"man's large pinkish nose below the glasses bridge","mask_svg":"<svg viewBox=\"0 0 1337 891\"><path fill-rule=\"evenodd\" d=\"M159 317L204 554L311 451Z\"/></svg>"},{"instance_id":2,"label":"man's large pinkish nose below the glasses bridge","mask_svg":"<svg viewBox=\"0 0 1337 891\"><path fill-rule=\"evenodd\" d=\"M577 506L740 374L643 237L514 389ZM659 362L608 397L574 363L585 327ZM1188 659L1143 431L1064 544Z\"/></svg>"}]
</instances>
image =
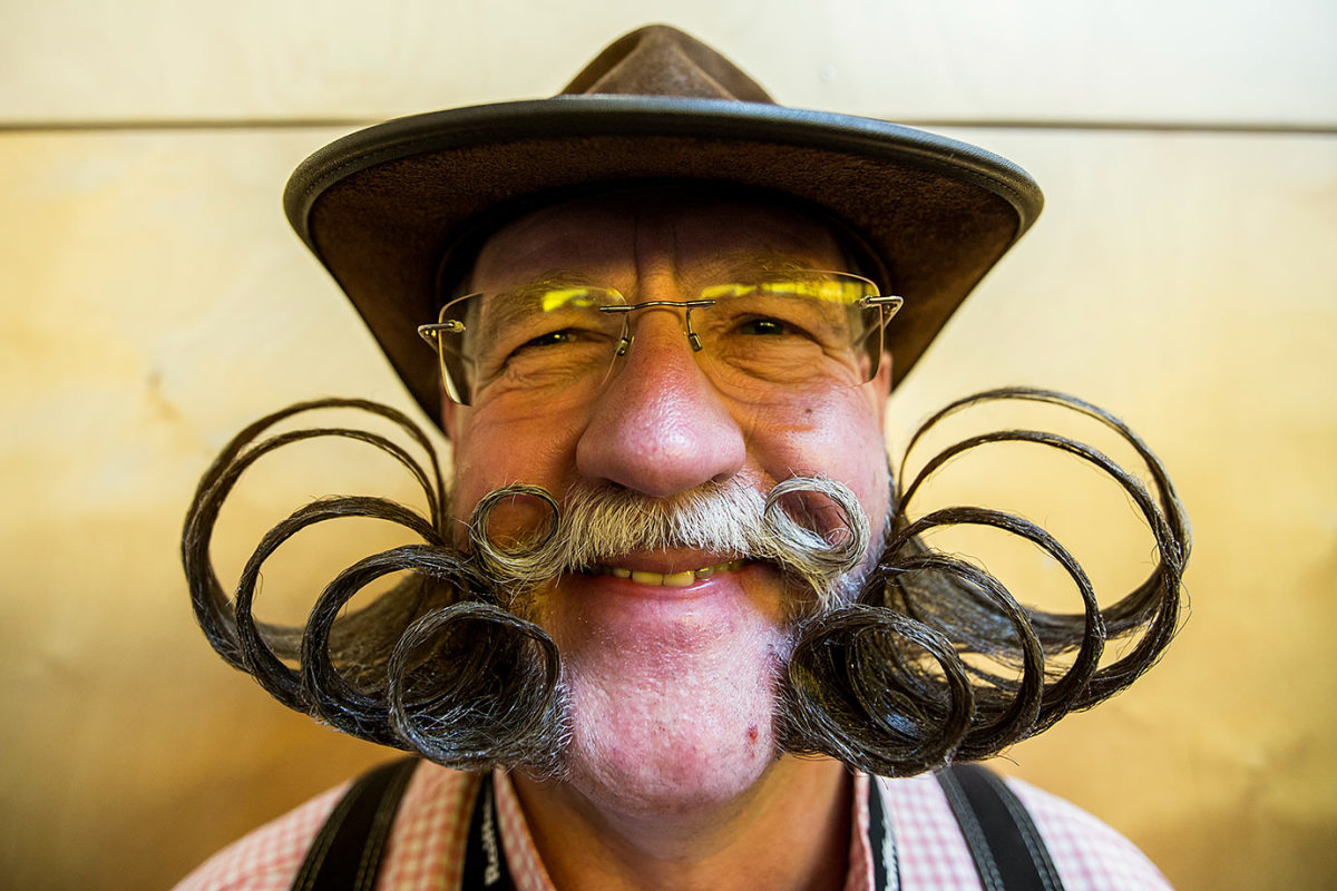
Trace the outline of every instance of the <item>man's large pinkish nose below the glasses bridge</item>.
<instances>
[{"instance_id":1,"label":"man's large pinkish nose below the glasses bridge","mask_svg":"<svg viewBox=\"0 0 1337 891\"><path fill-rule=\"evenodd\" d=\"M644 310L632 330L576 446L580 474L658 498L737 474L743 431L693 358L679 314Z\"/></svg>"}]
</instances>

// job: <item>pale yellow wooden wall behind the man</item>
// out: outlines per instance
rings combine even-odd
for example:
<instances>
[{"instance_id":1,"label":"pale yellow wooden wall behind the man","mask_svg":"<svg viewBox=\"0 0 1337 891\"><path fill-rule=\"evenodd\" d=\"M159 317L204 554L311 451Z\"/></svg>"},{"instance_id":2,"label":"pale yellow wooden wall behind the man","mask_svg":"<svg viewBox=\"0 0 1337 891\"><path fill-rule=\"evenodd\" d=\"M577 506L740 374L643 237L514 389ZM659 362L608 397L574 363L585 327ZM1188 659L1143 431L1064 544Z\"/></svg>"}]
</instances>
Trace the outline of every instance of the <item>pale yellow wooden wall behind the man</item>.
<instances>
[{"instance_id":1,"label":"pale yellow wooden wall behind the man","mask_svg":"<svg viewBox=\"0 0 1337 891\"><path fill-rule=\"evenodd\" d=\"M195 478L249 419L322 394L408 403L286 230L279 190L352 122L544 95L660 19L782 102L939 122L1036 175L1044 216L893 399L889 445L898 456L933 407L997 383L1111 407L1190 509L1193 617L1131 692L1001 767L1112 823L1181 887L1337 880L1332 4L385 8L0 5L7 884L164 887L384 756L286 713L213 656L175 556ZM251 126L222 126L237 123ZM1078 126L1092 123L1151 128ZM1007 422L976 423L989 421ZM225 514L218 557L234 572L312 496L382 490L412 497L356 452L278 462ZM1150 565L1124 501L1091 474L1000 452L932 494L957 493L1054 526L1107 598ZM262 612L298 616L309 596L285 590L388 541L357 526L294 542ZM1029 554L949 546L1042 600L1064 593Z\"/></svg>"}]
</instances>

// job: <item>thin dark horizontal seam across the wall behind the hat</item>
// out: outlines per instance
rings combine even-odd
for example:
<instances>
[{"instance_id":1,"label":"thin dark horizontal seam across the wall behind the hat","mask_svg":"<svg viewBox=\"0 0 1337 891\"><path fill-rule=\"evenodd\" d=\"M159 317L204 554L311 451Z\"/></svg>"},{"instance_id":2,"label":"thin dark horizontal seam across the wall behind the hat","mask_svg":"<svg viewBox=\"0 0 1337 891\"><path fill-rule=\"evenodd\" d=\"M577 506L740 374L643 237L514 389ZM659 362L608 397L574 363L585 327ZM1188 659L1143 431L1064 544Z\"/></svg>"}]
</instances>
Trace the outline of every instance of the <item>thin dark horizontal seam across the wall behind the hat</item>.
<instances>
[{"instance_id":1,"label":"thin dark horizontal seam across the wall behind the hat","mask_svg":"<svg viewBox=\"0 0 1337 891\"><path fill-rule=\"evenodd\" d=\"M152 132L172 130L317 130L370 127L373 118L237 118L237 119L154 119L154 120L9 120L0 122L0 134L80 134ZM897 120L909 127L988 128L988 130L1076 130L1183 134L1277 134L1337 136L1337 124L1285 124L1250 122L1155 122L1155 120L1025 120L932 118Z\"/></svg>"}]
</instances>

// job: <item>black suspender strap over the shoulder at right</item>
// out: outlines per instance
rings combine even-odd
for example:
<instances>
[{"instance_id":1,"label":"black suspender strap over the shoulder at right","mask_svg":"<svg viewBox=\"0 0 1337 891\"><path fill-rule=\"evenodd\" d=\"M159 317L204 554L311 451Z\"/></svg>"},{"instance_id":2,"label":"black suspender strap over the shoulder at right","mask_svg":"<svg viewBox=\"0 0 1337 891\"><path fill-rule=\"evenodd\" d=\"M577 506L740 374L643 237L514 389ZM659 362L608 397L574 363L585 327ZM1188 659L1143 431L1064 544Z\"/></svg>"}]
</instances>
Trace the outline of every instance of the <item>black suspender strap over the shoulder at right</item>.
<instances>
[{"instance_id":1,"label":"black suspender strap over the shoulder at right","mask_svg":"<svg viewBox=\"0 0 1337 891\"><path fill-rule=\"evenodd\" d=\"M975 858L984 891L1062 891L1063 883L1031 815L1012 789L979 764L937 773Z\"/></svg>"}]
</instances>

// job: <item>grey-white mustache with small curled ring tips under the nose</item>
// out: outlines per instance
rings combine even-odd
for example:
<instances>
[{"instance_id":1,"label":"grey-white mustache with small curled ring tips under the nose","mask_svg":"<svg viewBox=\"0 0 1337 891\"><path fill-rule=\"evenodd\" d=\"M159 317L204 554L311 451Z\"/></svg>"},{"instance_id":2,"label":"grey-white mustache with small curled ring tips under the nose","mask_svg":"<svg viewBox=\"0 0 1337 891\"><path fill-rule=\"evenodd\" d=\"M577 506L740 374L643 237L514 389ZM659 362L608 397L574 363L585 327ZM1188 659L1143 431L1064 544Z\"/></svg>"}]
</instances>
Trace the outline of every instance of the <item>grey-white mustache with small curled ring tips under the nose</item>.
<instances>
[{"instance_id":1,"label":"grey-white mustache with small curled ring tips under the nose","mask_svg":"<svg viewBox=\"0 0 1337 891\"><path fill-rule=\"evenodd\" d=\"M812 525L805 525L794 516L802 512L785 508L813 496L836 508L840 524L813 528L812 512L804 517ZM516 497L547 504L550 525L501 548L488 534L489 520L503 502ZM516 484L479 501L469 518L469 538L479 561L512 598L632 552L691 549L769 561L812 589L822 612L849 588L842 578L862 562L870 533L849 486L822 477L792 477L766 496L737 482L710 484L670 498L576 484L560 508L547 489Z\"/></svg>"}]
</instances>

